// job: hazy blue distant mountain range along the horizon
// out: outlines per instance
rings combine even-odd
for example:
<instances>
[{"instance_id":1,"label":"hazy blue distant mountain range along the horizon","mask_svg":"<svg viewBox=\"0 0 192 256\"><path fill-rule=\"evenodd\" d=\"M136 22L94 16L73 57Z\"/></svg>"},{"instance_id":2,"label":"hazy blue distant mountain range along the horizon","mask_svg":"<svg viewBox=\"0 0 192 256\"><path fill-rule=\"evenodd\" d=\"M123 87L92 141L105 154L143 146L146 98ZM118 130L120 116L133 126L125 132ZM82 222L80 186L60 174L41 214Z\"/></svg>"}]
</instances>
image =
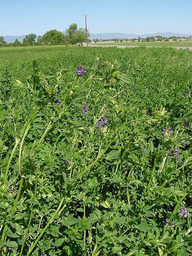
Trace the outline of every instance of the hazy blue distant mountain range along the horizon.
<instances>
[{"instance_id":1,"label":"hazy blue distant mountain range along the horizon","mask_svg":"<svg viewBox=\"0 0 192 256\"><path fill-rule=\"evenodd\" d=\"M192 34L183 34L183 33L172 33L172 32L166 32L166 33L154 33L154 34L142 34L142 35L137 35L137 34L124 34L124 33L100 33L100 34L90 34L89 39L113 39L113 38L119 38L119 39L124 39L124 38L138 38L140 36L141 38L146 38L147 36L165 36L165 37L170 37L170 36L191 36ZM20 42L23 41L25 35L22 36L4 36L4 39L7 43L13 43L14 40L17 38Z\"/></svg>"}]
</instances>

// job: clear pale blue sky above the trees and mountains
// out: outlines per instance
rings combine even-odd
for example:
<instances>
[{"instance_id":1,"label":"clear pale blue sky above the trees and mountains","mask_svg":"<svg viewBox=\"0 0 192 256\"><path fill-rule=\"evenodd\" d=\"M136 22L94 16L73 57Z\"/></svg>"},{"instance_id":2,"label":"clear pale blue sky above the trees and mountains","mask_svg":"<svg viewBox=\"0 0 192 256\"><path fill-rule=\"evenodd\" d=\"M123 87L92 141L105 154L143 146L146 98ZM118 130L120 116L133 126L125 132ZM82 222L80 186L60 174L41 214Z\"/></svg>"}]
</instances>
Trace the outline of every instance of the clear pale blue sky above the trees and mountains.
<instances>
[{"instance_id":1,"label":"clear pale blue sky above the trees and mountains","mask_svg":"<svg viewBox=\"0 0 192 256\"><path fill-rule=\"evenodd\" d=\"M0 0L0 36L83 27L90 33L192 34L192 0Z\"/></svg>"}]
</instances>

